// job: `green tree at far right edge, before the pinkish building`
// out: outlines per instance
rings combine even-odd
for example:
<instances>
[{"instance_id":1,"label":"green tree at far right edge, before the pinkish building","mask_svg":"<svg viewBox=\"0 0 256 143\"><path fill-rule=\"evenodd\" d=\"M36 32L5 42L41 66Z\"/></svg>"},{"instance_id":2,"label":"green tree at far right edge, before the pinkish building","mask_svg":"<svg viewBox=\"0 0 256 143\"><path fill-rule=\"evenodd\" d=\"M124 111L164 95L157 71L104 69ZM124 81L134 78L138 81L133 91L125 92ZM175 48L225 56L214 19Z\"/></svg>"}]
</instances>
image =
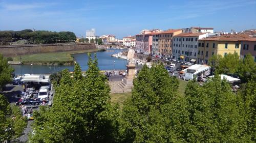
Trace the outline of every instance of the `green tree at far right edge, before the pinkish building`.
<instances>
[{"instance_id":1,"label":"green tree at far right edge, before the pinkish building","mask_svg":"<svg viewBox=\"0 0 256 143\"><path fill-rule=\"evenodd\" d=\"M238 69L239 76L243 83L253 78L255 79L256 63L250 53L248 53L243 60L240 60Z\"/></svg>"}]
</instances>

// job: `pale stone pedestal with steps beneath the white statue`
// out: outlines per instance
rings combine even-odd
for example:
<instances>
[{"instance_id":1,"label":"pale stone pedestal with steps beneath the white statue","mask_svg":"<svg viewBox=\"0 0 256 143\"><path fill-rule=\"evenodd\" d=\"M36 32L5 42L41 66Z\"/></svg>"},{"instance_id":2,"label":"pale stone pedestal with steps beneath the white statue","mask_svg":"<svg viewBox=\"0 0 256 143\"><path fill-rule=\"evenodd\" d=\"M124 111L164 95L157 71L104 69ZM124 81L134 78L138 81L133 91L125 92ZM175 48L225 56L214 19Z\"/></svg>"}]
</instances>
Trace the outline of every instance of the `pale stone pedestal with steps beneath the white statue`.
<instances>
[{"instance_id":1,"label":"pale stone pedestal with steps beneath the white statue","mask_svg":"<svg viewBox=\"0 0 256 143\"><path fill-rule=\"evenodd\" d=\"M132 89L133 88L133 79L135 76L135 68L134 64L126 65L127 67L127 75L123 78L123 81L119 84L122 89Z\"/></svg>"}]
</instances>

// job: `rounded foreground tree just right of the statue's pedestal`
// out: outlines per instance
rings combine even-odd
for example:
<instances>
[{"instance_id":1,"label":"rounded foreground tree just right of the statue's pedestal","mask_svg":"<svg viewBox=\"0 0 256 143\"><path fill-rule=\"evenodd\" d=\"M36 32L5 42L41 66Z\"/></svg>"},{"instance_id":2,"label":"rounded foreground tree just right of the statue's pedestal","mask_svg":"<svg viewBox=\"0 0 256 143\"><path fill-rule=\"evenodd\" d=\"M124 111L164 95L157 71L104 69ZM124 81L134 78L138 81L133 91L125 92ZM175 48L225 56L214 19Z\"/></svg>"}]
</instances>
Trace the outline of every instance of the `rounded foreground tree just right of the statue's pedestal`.
<instances>
[{"instance_id":1,"label":"rounded foreground tree just right of the statue's pedestal","mask_svg":"<svg viewBox=\"0 0 256 143\"><path fill-rule=\"evenodd\" d=\"M166 118L162 109L177 96L178 83L163 65L142 68L134 79L132 98L123 107L124 134L131 139L129 142L167 141Z\"/></svg>"}]
</instances>

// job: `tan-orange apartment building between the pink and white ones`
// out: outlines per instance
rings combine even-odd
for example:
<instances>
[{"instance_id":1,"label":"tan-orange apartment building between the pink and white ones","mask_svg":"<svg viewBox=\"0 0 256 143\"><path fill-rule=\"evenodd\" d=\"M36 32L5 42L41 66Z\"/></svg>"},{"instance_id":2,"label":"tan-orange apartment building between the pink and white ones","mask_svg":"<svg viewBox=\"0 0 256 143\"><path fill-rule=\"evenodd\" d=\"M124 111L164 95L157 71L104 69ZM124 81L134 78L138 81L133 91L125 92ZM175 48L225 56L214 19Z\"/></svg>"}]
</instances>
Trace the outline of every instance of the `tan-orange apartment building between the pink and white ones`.
<instances>
[{"instance_id":1,"label":"tan-orange apartment building between the pink and white ones","mask_svg":"<svg viewBox=\"0 0 256 143\"><path fill-rule=\"evenodd\" d=\"M172 56L173 36L181 34L182 30L168 30L159 33L158 37L158 53L161 56L169 58Z\"/></svg>"}]
</instances>

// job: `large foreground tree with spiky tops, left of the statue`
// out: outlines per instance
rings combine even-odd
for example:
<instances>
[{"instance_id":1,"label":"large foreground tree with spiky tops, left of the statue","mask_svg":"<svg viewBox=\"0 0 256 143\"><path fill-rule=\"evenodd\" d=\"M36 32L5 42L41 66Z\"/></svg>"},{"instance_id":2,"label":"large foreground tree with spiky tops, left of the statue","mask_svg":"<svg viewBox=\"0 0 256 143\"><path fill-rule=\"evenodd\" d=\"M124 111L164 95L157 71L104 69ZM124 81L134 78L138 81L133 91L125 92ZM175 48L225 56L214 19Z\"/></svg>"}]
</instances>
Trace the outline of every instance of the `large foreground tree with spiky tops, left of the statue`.
<instances>
[{"instance_id":1,"label":"large foreground tree with spiky tops, left of the statue","mask_svg":"<svg viewBox=\"0 0 256 143\"><path fill-rule=\"evenodd\" d=\"M118 106L110 102L110 87L89 55L85 77L75 65L73 78L62 71L51 108L35 112L31 142L119 142Z\"/></svg>"}]
</instances>

